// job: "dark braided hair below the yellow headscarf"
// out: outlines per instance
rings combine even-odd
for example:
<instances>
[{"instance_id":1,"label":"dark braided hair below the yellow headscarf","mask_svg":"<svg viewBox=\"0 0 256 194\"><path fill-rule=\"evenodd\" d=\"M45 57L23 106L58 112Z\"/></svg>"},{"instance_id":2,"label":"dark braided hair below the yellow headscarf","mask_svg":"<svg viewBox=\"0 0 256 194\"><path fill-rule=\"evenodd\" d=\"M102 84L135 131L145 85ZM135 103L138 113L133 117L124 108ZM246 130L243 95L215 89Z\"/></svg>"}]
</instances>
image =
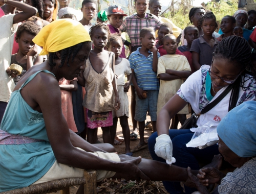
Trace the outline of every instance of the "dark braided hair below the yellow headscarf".
<instances>
[{"instance_id":1,"label":"dark braided hair below the yellow headscarf","mask_svg":"<svg viewBox=\"0 0 256 194\"><path fill-rule=\"evenodd\" d=\"M77 55L77 53L81 50L83 44L86 43L86 47L88 47L88 49L91 50L91 42L90 41L87 41L87 42L81 42L81 43L78 43L74 46L70 46L68 48L64 48L63 50L61 50L61 62L60 62L60 65L59 67L62 67L67 59L67 65L68 67L70 66L69 65L69 60L71 59L71 62L74 61L74 58L75 56ZM53 62L54 59L58 59L57 55L56 55L56 52L54 53L49 53L49 64L51 67L54 67L56 65L56 63Z\"/></svg>"}]
</instances>

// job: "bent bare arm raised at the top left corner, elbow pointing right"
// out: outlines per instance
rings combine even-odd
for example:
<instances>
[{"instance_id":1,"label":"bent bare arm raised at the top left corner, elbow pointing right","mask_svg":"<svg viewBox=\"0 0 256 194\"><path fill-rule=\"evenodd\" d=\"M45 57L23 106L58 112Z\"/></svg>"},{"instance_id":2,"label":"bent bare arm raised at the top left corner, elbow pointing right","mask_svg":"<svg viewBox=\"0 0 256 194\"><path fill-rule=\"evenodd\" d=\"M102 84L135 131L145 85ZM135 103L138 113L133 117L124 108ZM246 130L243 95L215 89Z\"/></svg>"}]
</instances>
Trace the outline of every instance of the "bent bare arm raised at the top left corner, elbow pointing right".
<instances>
[{"instance_id":1,"label":"bent bare arm raised at the top left corner, elbow pointing right","mask_svg":"<svg viewBox=\"0 0 256 194\"><path fill-rule=\"evenodd\" d=\"M6 2L4 2L4 0L0 0L0 4L1 3L3 3L3 4L5 3L5 4L11 5L13 7L16 7L18 9L22 10L22 12L14 15L13 24L27 20L28 18L32 17L33 15L35 15L37 13L36 8L29 6L27 4L24 4L24 3L17 2L17 1L7 0Z\"/></svg>"}]
</instances>

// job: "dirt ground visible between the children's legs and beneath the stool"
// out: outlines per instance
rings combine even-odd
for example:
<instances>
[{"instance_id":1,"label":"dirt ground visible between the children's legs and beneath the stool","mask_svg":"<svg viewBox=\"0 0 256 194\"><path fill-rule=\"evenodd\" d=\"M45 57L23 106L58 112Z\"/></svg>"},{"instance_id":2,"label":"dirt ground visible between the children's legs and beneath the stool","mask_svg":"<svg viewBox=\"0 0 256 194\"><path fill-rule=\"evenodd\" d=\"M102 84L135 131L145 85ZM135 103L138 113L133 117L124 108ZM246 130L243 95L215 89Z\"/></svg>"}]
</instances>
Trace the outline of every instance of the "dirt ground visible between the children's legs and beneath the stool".
<instances>
[{"instance_id":1,"label":"dirt ground visible between the children's legs and beneath the stool","mask_svg":"<svg viewBox=\"0 0 256 194\"><path fill-rule=\"evenodd\" d=\"M128 95L128 98L129 98L129 104L131 104L131 90L129 90L129 92L127 92L127 95ZM130 106L129 106L129 108L130 108ZM130 133L132 133L132 131L133 131L133 124L132 124L132 119L131 119L131 111L129 112L129 119L128 119L128 121L129 121L129 127L130 127ZM145 123L148 121L148 122L150 122L150 116L147 116L147 118L146 118L146 120L145 120ZM178 128L179 127L181 127L181 125L179 124L179 126L178 126ZM144 131L144 138L145 139L147 139L148 137L150 137L151 136L151 134L152 134L152 132L153 131L150 131L150 130L146 130L145 129L145 131ZM122 134L122 128L121 128L121 126L120 126L120 123L119 123L119 120L118 120L118 125L117 125L117 132L116 132L116 134L118 135L118 136L120 136L120 137L123 137L123 134ZM101 141L102 143L103 143L103 139L102 139L102 131L101 131L101 129L98 129L98 139L99 139L99 141ZM130 148L131 148L131 150L133 150L136 146L137 146L137 144L139 143L139 137L138 137L138 139L137 140L135 140L135 141L130 141ZM124 153L124 149L125 149L125 144L124 144L124 142L122 142L122 144L121 145L118 145L118 146L114 146L115 148L116 148L116 151L118 152L118 154L123 154ZM142 158L146 158L146 159L152 159L152 157L151 157L151 155L150 155L150 152L148 151L148 148L145 148L145 149L143 149L143 150L140 150L140 151L138 151L138 152L135 152L135 153L133 153L133 156L134 157L138 157L138 156L141 156ZM146 184L146 183L145 183ZM144 185L145 184L141 184L141 188L144 188ZM104 183L104 184L101 184L101 185L104 185L104 187L105 187L105 185L109 185L109 183ZM157 188L157 190L159 190L159 188L163 188L163 186L162 186L162 183L161 182L154 182L154 183L152 183L152 185L154 185L153 187L158 187ZM148 185L148 183L147 183L147 186L152 186L152 185ZM157 185L157 186L156 186ZM114 186L116 186L116 184L114 185L113 184L113 187ZM103 187L103 186L102 186ZM76 191L77 191L77 189L78 189L78 186L74 186L74 187L71 187L70 188L70 193L71 194L75 194L76 193ZM139 187L138 188L135 188L135 190L139 190ZM134 193L144 193L143 192L143 190L141 191L141 192L134 192ZM152 190L153 191L153 190ZM58 192L56 192L57 194L59 194L60 193L60 191L58 191ZM100 193L115 193L115 192L104 192L104 190L103 190L103 192L101 191ZM123 193L123 192L122 192ZM128 192L127 192L128 193ZM130 193L130 192L129 192ZM152 192L149 192L149 193L152 193ZM156 192L155 192L156 193ZM160 192L157 192L157 193L167 193L166 191L164 191L164 190L160 190ZM54 193L50 193L50 194L54 194Z\"/></svg>"}]
</instances>

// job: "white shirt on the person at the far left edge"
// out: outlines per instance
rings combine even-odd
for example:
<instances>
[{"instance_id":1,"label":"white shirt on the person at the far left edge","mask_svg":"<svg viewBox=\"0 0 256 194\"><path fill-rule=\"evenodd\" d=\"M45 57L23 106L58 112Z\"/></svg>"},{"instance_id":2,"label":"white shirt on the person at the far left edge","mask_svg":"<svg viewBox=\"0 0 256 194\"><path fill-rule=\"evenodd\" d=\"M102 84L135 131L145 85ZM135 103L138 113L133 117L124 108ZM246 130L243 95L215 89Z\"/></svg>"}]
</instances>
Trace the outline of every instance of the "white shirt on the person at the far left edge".
<instances>
[{"instance_id":1,"label":"white shirt on the person at the far left edge","mask_svg":"<svg viewBox=\"0 0 256 194\"><path fill-rule=\"evenodd\" d=\"M14 15L4 15L0 18L0 101L8 102L15 87L11 76L6 72L10 66L14 34L17 23L12 25Z\"/></svg>"}]
</instances>

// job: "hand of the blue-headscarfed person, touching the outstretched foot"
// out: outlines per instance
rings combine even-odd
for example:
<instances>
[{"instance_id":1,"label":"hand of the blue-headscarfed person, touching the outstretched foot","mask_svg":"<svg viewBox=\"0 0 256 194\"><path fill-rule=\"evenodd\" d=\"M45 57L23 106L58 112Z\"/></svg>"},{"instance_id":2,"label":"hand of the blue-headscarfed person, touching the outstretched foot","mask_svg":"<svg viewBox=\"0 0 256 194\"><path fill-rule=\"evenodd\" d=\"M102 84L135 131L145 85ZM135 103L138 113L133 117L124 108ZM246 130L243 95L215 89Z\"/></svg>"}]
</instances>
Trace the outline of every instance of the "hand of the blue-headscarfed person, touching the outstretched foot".
<instances>
[{"instance_id":1,"label":"hand of the blue-headscarfed person, touching the outstretched foot","mask_svg":"<svg viewBox=\"0 0 256 194\"><path fill-rule=\"evenodd\" d=\"M197 178L199 179L199 182L203 184L204 186L208 186L209 184L215 184L220 183L221 179L225 175L221 173L217 168L214 167L206 167L201 168L199 170L199 174L197 175Z\"/></svg>"}]
</instances>

